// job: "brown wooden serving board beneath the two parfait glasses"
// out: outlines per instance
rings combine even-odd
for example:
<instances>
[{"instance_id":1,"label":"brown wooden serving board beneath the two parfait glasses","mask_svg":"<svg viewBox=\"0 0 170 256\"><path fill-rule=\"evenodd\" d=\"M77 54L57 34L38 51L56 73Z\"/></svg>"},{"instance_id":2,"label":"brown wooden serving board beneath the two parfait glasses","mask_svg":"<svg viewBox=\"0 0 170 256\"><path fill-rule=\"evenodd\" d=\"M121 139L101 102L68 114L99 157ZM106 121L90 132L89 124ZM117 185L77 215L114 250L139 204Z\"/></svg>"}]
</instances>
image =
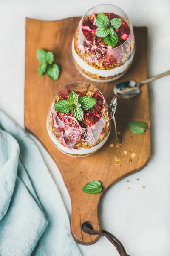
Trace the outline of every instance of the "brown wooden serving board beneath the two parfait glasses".
<instances>
[{"instance_id":1,"label":"brown wooden serving board beneath the two parfait glasses","mask_svg":"<svg viewBox=\"0 0 170 256\"><path fill-rule=\"evenodd\" d=\"M122 178L141 170L150 158L150 111L147 85L142 87L140 96L134 99L118 99L116 118L118 131L122 133L123 145L116 148L112 125L108 142L96 154L88 157L69 157L62 154L51 142L46 130L46 118L54 96L65 84L73 81L87 81L102 91L109 103L113 98L113 86L129 79L142 81L147 78L147 28L134 28L136 54L130 70L121 79L111 83L96 83L85 79L74 66L71 55L71 41L80 18L58 21L40 21L26 18L26 71L25 71L25 127L44 145L56 162L72 204L71 232L80 244L94 244L99 236L90 236L82 231L82 224L89 221L94 230L100 230L98 219L99 201L105 191ZM52 81L47 75L38 74L39 61L37 49L54 53L61 75ZM133 134L128 126L129 120L144 121L148 130L142 135ZM114 147L110 147L113 143ZM124 154L124 150L128 154ZM131 158L135 152L138 160ZM115 166L114 157L121 159L121 167ZM129 160L132 159L132 163ZM82 187L91 180L100 180L104 187L99 194L86 194ZM57 203L57 202L56 202Z\"/></svg>"}]
</instances>

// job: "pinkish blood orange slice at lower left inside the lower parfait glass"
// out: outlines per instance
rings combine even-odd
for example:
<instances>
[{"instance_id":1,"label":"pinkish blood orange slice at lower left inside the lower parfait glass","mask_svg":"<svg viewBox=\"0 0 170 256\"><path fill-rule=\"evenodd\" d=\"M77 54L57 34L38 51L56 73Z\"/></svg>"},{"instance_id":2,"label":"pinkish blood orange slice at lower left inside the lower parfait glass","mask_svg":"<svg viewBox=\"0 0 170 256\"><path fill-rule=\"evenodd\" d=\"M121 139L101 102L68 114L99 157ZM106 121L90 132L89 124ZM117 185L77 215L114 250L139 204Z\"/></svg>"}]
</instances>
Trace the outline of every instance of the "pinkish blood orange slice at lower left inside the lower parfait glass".
<instances>
[{"instance_id":1,"label":"pinkish blood orange slice at lower left inside the lower parfait glass","mask_svg":"<svg viewBox=\"0 0 170 256\"><path fill-rule=\"evenodd\" d=\"M59 120L63 123L63 144L68 147L73 147L81 139L82 127L77 119L73 116L68 116L65 113L57 113Z\"/></svg>"}]
</instances>

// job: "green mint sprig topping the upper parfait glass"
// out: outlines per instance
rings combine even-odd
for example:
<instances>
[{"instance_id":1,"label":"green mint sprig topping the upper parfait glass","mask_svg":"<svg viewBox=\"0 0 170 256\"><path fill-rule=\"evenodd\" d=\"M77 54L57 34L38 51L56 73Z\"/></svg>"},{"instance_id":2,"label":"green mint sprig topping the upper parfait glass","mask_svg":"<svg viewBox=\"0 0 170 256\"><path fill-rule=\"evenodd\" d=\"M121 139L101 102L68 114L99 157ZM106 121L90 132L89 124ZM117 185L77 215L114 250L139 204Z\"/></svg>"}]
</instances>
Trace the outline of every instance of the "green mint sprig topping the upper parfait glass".
<instances>
[{"instance_id":1,"label":"green mint sprig topping the upper parfait glass","mask_svg":"<svg viewBox=\"0 0 170 256\"><path fill-rule=\"evenodd\" d=\"M98 13L96 18L96 36L103 38L104 42L112 47L118 43L118 35L114 29L119 29L122 25L122 20L114 18L111 21L104 13Z\"/></svg>"}]
</instances>

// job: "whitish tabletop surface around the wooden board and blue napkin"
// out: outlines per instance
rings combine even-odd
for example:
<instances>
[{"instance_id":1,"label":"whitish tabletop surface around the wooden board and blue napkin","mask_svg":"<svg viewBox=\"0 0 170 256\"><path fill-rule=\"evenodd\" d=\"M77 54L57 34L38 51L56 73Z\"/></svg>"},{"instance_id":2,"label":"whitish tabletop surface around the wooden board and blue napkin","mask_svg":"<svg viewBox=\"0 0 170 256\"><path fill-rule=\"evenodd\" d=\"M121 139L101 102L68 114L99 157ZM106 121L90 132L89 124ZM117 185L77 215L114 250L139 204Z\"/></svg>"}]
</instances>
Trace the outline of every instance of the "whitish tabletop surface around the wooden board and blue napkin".
<instances>
[{"instance_id":1,"label":"whitish tabletop surface around the wooden board and blue napkin","mask_svg":"<svg viewBox=\"0 0 170 256\"><path fill-rule=\"evenodd\" d=\"M99 3L102 1L0 0L0 108L20 126L24 127L25 18L57 20L79 16ZM149 76L170 69L169 0L108 0L108 3L122 7L134 26L149 28ZM107 192L99 218L102 228L114 233L131 256L169 256L170 76L152 82L149 92L152 157L147 167L129 177L129 183L122 180ZM37 144L71 215L70 198L59 170ZM118 256L105 238L79 248L83 256Z\"/></svg>"}]
</instances>

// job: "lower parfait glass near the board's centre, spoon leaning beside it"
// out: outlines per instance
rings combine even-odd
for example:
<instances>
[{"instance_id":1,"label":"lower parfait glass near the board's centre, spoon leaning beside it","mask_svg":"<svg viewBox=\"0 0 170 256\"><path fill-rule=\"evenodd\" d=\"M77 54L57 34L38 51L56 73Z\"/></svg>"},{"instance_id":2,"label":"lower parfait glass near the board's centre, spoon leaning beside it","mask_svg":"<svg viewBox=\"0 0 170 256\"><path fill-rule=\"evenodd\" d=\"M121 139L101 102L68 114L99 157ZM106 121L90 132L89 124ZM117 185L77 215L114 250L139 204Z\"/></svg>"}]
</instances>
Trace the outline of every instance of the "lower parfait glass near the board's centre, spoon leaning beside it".
<instances>
[{"instance_id":1,"label":"lower parfait glass near the board's centre, spoon leaning beside it","mask_svg":"<svg viewBox=\"0 0 170 256\"><path fill-rule=\"evenodd\" d=\"M104 96L85 82L65 85L52 102L47 130L64 154L84 157L95 153L105 144L111 130Z\"/></svg>"}]
</instances>

